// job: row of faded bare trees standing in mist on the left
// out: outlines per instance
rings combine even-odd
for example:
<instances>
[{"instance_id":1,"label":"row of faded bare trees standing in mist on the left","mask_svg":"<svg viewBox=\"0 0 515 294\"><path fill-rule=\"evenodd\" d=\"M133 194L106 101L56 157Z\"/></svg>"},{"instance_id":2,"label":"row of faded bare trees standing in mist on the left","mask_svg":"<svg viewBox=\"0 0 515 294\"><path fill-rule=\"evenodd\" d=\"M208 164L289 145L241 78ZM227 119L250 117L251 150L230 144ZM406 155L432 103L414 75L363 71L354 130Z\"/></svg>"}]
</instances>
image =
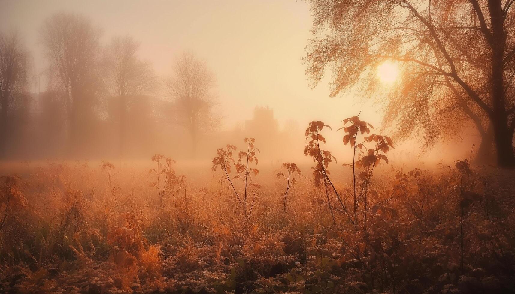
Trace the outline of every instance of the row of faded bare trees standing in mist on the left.
<instances>
[{"instance_id":1,"label":"row of faded bare trees standing in mist on the left","mask_svg":"<svg viewBox=\"0 0 515 294\"><path fill-rule=\"evenodd\" d=\"M51 16L40 29L48 66L35 75L20 34L0 35L2 158L195 155L199 138L219 123L205 62L184 53L160 78L138 57L139 42L100 37L82 15ZM39 93L30 92L35 80Z\"/></svg>"}]
</instances>

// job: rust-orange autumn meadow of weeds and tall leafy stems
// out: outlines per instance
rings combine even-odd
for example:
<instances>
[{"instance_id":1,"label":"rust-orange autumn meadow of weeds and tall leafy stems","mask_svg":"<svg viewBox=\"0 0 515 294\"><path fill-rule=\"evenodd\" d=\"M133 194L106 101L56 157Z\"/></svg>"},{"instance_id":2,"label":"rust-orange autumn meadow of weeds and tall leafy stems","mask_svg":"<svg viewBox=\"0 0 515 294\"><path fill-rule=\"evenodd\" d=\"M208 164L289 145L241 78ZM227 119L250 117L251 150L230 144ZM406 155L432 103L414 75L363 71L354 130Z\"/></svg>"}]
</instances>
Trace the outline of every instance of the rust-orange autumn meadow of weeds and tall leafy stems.
<instances>
[{"instance_id":1,"label":"rust-orange autumn meadow of weeds and tall leafy stems","mask_svg":"<svg viewBox=\"0 0 515 294\"><path fill-rule=\"evenodd\" d=\"M512 173L407 168L358 117L342 133L354 157L336 162L329 131L306 129L312 165L261 168L253 138L202 166L4 164L0 292L515 290Z\"/></svg>"}]
</instances>

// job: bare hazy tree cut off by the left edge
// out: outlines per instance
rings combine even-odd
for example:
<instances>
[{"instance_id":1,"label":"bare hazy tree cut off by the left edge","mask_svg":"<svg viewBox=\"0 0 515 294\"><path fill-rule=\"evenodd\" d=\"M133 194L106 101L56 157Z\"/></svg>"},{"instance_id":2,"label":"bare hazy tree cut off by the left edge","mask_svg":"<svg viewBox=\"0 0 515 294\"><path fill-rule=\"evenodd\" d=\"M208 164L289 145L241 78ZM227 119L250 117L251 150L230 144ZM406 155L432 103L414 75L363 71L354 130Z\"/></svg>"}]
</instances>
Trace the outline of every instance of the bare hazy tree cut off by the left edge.
<instances>
[{"instance_id":1,"label":"bare hazy tree cut off by the left edge","mask_svg":"<svg viewBox=\"0 0 515 294\"><path fill-rule=\"evenodd\" d=\"M5 157L9 140L11 114L15 99L21 96L28 81L29 53L17 32L0 34L0 156Z\"/></svg>"}]
</instances>

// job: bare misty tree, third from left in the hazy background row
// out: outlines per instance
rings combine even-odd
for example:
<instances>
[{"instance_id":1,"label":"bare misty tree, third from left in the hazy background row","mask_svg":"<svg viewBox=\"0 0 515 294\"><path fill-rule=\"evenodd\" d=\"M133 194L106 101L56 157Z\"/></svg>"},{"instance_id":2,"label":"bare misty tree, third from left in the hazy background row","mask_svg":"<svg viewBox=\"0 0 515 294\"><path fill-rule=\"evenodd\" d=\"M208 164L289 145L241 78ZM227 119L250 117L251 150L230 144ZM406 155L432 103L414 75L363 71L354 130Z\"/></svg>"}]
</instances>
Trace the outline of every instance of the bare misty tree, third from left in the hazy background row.
<instances>
[{"instance_id":1,"label":"bare misty tree, third from left in the hazy background row","mask_svg":"<svg viewBox=\"0 0 515 294\"><path fill-rule=\"evenodd\" d=\"M108 85L119 98L119 152L123 154L126 140L127 98L152 91L156 85L156 75L149 61L138 59L140 43L131 37L116 37L111 40L106 54Z\"/></svg>"}]
</instances>

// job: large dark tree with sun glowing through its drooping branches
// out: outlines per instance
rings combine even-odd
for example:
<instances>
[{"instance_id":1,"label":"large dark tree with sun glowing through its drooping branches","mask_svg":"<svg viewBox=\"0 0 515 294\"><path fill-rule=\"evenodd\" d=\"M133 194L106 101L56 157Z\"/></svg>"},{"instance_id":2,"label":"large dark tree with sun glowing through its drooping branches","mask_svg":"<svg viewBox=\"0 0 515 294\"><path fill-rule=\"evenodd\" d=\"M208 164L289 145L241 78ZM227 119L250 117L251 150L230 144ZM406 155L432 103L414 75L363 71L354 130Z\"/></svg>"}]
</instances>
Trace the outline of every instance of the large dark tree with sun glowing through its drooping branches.
<instances>
[{"instance_id":1,"label":"large dark tree with sun glowing through its drooping branches","mask_svg":"<svg viewBox=\"0 0 515 294\"><path fill-rule=\"evenodd\" d=\"M472 123L484 144L493 131L497 163L515 167L513 2L310 0L316 38L307 74L316 85L332 70L333 96L358 82L375 91L374 69L396 62L402 78L389 93L385 123L397 122L398 139L421 130L431 146Z\"/></svg>"}]
</instances>

